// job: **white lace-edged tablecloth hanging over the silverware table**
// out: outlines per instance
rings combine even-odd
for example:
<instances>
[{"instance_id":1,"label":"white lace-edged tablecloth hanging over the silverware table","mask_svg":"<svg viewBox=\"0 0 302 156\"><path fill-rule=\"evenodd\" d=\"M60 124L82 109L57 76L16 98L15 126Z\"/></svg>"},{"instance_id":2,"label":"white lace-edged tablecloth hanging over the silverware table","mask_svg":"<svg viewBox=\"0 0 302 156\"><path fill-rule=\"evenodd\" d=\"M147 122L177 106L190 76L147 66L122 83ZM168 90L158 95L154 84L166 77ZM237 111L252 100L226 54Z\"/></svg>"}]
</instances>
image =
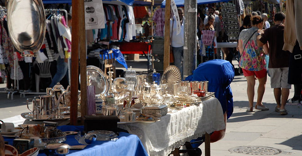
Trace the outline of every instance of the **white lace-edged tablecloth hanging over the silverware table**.
<instances>
[{"instance_id":1,"label":"white lace-edged tablecloth hanging over the silverware table","mask_svg":"<svg viewBox=\"0 0 302 156\"><path fill-rule=\"evenodd\" d=\"M199 106L168 113L154 123L126 123L118 127L137 135L150 156L167 156L174 148L206 132L225 129L225 123L220 102L211 98Z\"/></svg>"}]
</instances>

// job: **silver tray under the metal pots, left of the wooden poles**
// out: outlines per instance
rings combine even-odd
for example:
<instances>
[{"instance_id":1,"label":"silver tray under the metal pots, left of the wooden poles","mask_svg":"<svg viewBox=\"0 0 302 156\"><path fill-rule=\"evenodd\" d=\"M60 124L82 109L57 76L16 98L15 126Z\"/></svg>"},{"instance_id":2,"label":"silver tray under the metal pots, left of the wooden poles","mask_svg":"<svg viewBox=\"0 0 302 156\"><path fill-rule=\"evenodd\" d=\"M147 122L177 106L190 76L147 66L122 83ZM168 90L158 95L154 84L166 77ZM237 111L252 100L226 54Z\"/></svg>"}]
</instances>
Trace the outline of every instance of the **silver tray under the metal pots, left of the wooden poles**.
<instances>
[{"instance_id":1,"label":"silver tray under the metal pots, left of the wooden poles","mask_svg":"<svg viewBox=\"0 0 302 156\"><path fill-rule=\"evenodd\" d=\"M49 119L37 119L32 116L32 112L21 113L21 116L24 119L31 120L31 121L64 121L70 119L70 116L59 116L59 115L51 116ZM78 112L78 118L79 117L81 117L80 112Z\"/></svg>"}]
</instances>

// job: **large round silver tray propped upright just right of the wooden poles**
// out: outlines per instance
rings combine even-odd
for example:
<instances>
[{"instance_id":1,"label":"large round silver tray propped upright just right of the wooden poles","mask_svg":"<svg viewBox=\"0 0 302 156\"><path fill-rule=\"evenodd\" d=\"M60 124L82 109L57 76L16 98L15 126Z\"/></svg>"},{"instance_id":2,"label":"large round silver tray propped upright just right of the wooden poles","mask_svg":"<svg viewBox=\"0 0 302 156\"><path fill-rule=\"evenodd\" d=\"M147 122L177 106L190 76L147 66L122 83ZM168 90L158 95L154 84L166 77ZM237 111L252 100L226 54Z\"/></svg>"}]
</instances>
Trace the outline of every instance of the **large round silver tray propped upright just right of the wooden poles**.
<instances>
[{"instance_id":1,"label":"large round silver tray propped upright just right of the wooden poles","mask_svg":"<svg viewBox=\"0 0 302 156\"><path fill-rule=\"evenodd\" d=\"M95 86L96 94L108 93L109 82L106 78L106 74L102 71L102 69L96 66L87 66L86 72L87 72L87 76L90 76L90 80L89 82L87 82L87 84L90 83L90 85Z\"/></svg>"}]
</instances>

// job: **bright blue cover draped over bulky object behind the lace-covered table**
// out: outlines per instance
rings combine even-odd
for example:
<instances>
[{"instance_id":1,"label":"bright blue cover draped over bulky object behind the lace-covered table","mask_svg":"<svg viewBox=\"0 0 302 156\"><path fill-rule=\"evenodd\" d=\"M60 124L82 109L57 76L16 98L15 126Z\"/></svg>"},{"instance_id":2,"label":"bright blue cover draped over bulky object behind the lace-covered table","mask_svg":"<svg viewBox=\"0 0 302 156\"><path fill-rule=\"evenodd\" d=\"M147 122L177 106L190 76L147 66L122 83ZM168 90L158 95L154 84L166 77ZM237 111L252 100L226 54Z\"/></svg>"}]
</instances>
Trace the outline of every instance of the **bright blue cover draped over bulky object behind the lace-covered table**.
<instances>
[{"instance_id":1,"label":"bright blue cover draped over bulky object behind the lace-covered table","mask_svg":"<svg viewBox=\"0 0 302 156\"><path fill-rule=\"evenodd\" d=\"M233 94L230 84L235 74L231 63L220 59L210 60L201 63L193 72L193 76L189 76L186 80L209 81L208 92L215 92L223 114L227 111L229 118L233 113Z\"/></svg>"}]
</instances>

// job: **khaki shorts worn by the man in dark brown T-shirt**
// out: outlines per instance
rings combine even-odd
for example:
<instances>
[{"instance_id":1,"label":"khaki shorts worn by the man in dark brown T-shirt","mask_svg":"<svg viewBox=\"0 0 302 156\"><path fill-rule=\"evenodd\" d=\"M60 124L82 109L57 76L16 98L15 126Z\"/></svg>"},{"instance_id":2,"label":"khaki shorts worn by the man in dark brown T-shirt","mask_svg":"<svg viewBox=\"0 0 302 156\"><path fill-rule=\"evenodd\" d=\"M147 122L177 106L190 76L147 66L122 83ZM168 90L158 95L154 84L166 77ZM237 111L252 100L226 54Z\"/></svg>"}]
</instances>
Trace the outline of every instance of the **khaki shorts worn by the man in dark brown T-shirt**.
<instances>
[{"instance_id":1,"label":"khaki shorts worn by the man in dark brown T-shirt","mask_svg":"<svg viewBox=\"0 0 302 156\"><path fill-rule=\"evenodd\" d=\"M271 74L271 88L292 88L292 85L287 83L288 67L268 68L268 72Z\"/></svg>"}]
</instances>

